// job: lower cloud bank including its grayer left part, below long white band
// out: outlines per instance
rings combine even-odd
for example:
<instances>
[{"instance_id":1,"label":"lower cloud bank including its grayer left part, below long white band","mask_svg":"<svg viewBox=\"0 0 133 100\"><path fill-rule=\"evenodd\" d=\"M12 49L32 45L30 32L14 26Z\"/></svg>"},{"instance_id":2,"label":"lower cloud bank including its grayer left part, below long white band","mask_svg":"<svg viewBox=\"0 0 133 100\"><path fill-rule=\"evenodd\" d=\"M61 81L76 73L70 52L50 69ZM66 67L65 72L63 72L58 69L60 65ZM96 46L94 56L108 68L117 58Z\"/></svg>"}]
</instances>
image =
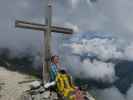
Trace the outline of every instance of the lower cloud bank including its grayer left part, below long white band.
<instances>
[{"instance_id":1,"label":"lower cloud bank including its grayer left part, below long white band","mask_svg":"<svg viewBox=\"0 0 133 100\"><path fill-rule=\"evenodd\" d=\"M68 69L74 76L78 78L94 79L102 82L114 82L117 77L115 76L115 64L106 63L103 61L85 59L81 62L78 56L65 55ZM70 66L70 65L71 66Z\"/></svg>"}]
</instances>

